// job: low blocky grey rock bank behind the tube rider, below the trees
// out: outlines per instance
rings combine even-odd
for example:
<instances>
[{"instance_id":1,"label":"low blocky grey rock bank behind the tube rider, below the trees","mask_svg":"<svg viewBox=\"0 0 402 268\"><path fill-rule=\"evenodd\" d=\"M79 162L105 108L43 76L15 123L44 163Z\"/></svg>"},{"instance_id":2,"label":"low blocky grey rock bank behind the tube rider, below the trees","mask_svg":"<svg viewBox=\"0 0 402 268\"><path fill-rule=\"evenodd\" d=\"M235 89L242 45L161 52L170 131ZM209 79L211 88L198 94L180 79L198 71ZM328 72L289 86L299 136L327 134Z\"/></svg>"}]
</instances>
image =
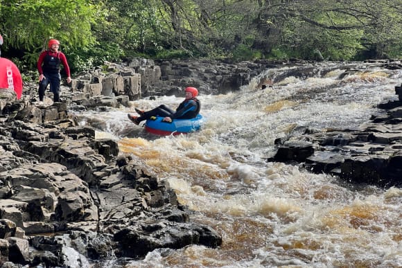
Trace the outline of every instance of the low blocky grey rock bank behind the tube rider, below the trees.
<instances>
[{"instance_id":1,"label":"low blocky grey rock bank behind the tube rider, below the trees","mask_svg":"<svg viewBox=\"0 0 402 268\"><path fill-rule=\"evenodd\" d=\"M146 60L134 58L121 64L108 63L73 79L73 92L79 98L94 96L143 97L182 96L185 87L197 87L202 93L218 94L239 90L268 67L284 62L229 62L214 60ZM291 63L290 63L291 64Z\"/></svg>"}]
</instances>

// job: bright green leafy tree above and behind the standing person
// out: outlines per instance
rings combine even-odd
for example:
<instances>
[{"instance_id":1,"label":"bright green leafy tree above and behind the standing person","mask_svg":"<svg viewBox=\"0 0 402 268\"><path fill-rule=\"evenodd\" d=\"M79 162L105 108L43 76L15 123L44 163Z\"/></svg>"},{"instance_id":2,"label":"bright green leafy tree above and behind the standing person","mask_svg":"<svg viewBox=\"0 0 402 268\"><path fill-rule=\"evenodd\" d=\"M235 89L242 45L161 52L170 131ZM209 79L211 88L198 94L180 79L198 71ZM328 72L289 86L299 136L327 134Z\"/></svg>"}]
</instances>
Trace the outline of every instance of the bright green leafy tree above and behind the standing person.
<instances>
[{"instance_id":1,"label":"bright green leafy tree above and behind the standing person","mask_svg":"<svg viewBox=\"0 0 402 268\"><path fill-rule=\"evenodd\" d=\"M89 0L0 1L0 31L7 48L24 52L23 60L34 68L50 38L58 39L61 48L85 48L96 42L91 24L96 6Z\"/></svg>"}]
</instances>

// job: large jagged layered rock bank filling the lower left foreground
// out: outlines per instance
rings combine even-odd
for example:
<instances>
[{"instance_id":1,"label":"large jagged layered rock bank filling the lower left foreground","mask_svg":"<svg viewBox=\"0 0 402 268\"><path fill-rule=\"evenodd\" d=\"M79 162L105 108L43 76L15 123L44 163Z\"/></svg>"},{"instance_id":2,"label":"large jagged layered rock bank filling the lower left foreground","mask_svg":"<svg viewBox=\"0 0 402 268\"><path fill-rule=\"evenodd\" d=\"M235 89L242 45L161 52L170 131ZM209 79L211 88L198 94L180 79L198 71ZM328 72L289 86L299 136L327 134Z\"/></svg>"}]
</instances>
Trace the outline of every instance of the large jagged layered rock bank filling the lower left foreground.
<instances>
[{"instance_id":1,"label":"large jagged layered rock bank filling the lower left foreground","mask_svg":"<svg viewBox=\"0 0 402 268\"><path fill-rule=\"evenodd\" d=\"M14 103L0 118L1 267L89 267L222 244L166 181L116 141L95 139L66 104Z\"/></svg>"}]
</instances>

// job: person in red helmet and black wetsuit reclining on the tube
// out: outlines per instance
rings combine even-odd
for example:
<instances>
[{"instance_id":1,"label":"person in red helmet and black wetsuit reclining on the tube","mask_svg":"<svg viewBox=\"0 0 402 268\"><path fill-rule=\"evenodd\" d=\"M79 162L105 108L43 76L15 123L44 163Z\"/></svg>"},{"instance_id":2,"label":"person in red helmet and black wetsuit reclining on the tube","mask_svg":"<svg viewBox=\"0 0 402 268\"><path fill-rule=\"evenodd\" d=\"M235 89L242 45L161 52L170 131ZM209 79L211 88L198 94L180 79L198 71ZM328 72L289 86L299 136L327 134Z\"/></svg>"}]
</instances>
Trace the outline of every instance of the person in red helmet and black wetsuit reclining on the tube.
<instances>
[{"instance_id":1,"label":"person in red helmet and black wetsuit reclining on the tube","mask_svg":"<svg viewBox=\"0 0 402 268\"><path fill-rule=\"evenodd\" d=\"M148 120L152 116L163 116L164 121L172 122L173 119L191 119L195 118L200 113L201 103L198 100L198 90L195 87L186 87L184 90L186 92L185 99L177 107L176 111L167 107L166 105L160 105L155 109L150 111L143 111L135 108L139 116L133 116L132 114L127 114L128 118L132 120L135 125L139 125L141 121Z\"/></svg>"}]
</instances>

